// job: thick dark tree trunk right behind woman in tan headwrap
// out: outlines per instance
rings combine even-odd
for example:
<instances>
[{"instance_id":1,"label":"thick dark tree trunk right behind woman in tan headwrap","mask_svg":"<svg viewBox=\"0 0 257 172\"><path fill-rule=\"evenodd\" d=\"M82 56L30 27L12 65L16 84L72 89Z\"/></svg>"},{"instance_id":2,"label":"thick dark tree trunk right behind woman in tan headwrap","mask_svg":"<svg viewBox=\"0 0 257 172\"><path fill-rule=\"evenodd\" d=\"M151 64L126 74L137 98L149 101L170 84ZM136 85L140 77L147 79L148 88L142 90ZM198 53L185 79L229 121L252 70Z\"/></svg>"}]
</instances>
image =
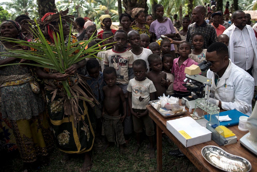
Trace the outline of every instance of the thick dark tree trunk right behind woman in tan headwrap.
<instances>
[{"instance_id":1,"label":"thick dark tree trunk right behind woman in tan headwrap","mask_svg":"<svg viewBox=\"0 0 257 172\"><path fill-rule=\"evenodd\" d=\"M133 8L144 8L144 13L148 14L148 6L146 4L147 0L123 0L123 7L126 13L131 15L131 10Z\"/></svg>"}]
</instances>

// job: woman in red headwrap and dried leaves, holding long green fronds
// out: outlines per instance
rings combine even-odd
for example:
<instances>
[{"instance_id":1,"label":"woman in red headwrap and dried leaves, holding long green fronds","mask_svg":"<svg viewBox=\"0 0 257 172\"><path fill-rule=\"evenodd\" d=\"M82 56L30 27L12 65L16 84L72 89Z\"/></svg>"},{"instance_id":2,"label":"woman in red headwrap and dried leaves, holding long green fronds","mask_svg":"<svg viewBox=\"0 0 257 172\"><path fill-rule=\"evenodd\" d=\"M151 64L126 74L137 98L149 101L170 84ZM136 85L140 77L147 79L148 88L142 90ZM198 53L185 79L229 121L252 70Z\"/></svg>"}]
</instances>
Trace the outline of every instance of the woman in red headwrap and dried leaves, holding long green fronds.
<instances>
[{"instance_id":1,"label":"woman in red headwrap and dried leaves, holding long green fronds","mask_svg":"<svg viewBox=\"0 0 257 172\"><path fill-rule=\"evenodd\" d=\"M60 35L59 25L61 23L63 35L60 36L64 36L64 40L68 44L70 29L67 22L72 25L75 23L71 20L74 16L66 15L67 13L68 9L59 13L46 13L38 21L50 46L55 46L54 37L57 39L57 33ZM41 42L39 39L34 41ZM76 37L72 35L70 44L76 42ZM37 51L33 48L31 50ZM71 55L76 53L77 51ZM77 69L84 67L85 64L85 59L73 64L65 70L65 74L49 68L37 68L36 70L37 75L43 79L45 84L47 107L57 147L67 153L62 162L69 161L71 153L85 153L84 163L79 169L82 172L89 171L92 165L89 151L93 147L95 134L91 124L93 113L89 113L89 110L91 110L90 106L94 106L94 103L98 104L85 78L77 74ZM69 80L71 98L68 98L67 94L64 93L61 82L67 79Z\"/></svg>"}]
</instances>

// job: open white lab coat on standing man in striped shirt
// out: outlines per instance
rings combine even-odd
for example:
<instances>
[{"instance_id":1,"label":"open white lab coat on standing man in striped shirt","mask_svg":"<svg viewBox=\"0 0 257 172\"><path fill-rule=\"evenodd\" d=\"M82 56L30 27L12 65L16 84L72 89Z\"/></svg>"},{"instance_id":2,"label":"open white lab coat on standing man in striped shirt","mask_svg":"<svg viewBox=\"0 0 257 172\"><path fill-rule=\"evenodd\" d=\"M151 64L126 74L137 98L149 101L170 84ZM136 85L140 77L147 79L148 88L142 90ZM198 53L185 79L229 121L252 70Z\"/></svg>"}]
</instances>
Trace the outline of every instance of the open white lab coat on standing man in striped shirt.
<instances>
[{"instance_id":1,"label":"open white lab coat on standing man in striped shirt","mask_svg":"<svg viewBox=\"0 0 257 172\"><path fill-rule=\"evenodd\" d=\"M252 43L252 47L254 49L254 59L252 62L252 66L253 66L253 70L252 70L252 76L254 77L255 80L255 85L257 86L257 41L256 41L256 37L255 37L255 33L254 30L252 29L252 27L250 25L246 25L245 26L250 39L251 40L246 40L246 41L251 41ZM228 43L228 52L229 52L229 58L231 59L232 62L234 62L234 30L235 30L236 26L234 25L234 23L228 27L228 29L226 29L223 34L228 35L229 37L229 43Z\"/></svg>"}]
</instances>

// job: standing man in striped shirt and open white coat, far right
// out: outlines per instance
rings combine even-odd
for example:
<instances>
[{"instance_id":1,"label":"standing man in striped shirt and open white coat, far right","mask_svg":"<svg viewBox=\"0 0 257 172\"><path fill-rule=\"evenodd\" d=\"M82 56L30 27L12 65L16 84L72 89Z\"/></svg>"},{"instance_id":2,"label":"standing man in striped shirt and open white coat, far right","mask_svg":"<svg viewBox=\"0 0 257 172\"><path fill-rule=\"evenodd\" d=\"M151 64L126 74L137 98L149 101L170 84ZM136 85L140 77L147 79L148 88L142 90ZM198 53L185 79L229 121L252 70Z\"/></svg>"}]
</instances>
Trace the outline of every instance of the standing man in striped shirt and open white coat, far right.
<instances>
[{"instance_id":1,"label":"standing man in striped shirt and open white coat, far right","mask_svg":"<svg viewBox=\"0 0 257 172\"><path fill-rule=\"evenodd\" d=\"M247 17L243 11L235 11L231 18L233 24L223 33L229 37L229 58L253 76L257 85L257 42L254 30L246 25Z\"/></svg>"}]
</instances>

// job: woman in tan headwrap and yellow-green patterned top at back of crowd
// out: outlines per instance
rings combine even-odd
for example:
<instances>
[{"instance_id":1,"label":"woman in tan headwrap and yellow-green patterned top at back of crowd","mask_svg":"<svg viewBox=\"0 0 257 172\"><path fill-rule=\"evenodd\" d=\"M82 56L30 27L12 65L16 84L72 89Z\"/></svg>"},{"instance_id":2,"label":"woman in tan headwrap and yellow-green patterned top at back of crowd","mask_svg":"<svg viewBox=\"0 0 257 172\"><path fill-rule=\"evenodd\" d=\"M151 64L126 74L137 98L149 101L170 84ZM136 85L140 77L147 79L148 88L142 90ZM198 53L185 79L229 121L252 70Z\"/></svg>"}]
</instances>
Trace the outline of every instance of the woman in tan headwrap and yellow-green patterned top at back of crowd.
<instances>
[{"instance_id":1,"label":"woman in tan headwrap and yellow-green patterned top at back of crowd","mask_svg":"<svg viewBox=\"0 0 257 172\"><path fill-rule=\"evenodd\" d=\"M131 11L131 17L135 19L136 24L132 25L131 28L138 31L139 34L146 33L150 36L149 26L146 25L146 19L143 8L133 8Z\"/></svg>"}]
</instances>

